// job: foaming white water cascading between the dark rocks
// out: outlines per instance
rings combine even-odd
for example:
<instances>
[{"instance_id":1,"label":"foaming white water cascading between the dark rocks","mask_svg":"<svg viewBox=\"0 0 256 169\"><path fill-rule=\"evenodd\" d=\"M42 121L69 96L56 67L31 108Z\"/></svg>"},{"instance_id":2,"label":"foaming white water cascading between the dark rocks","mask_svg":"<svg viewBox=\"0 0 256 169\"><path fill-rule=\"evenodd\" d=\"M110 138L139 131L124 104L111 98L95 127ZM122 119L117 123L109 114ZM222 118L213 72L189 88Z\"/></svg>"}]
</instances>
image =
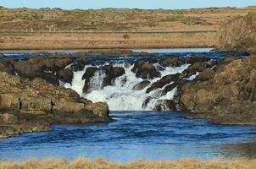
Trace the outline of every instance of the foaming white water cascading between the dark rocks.
<instances>
[{"instance_id":1,"label":"foaming white water cascading between the dark rocks","mask_svg":"<svg viewBox=\"0 0 256 169\"><path fill-rule=\"evenodd\" d=\"M146 93L147 88L165 75L181 73L183 70L188 68L189 64L184 64L178 68L165 68L163 71L160 71L161 78L147 79L151 84L143 90L133 90L133 87L136 84L143 81L141 78L136 78L136 74L131 71L133 65L129 63L114 63L113 66L125 68L125 74L115 79L114 85L102 88L105 74L103 71L97 71L90 80L89 93L83 93L85 80L82 80L82 76L85 74L86 68L92 67L90 65L86 65L82 71L74 72L72 85L66 83L64 86L75 90L79 95L93 102L106 101L109 104L109 110L111 111L153 110L155 106L163 103L164 100L173 99L176 93L176 88L166 93L166 95L161 95L161 90L164 90L166 85L162 89L153 90L148 94ZM160 67L158 63L155 63L154 66L156 68ZM124 82L124 79L126 79L126 82ZM147 106L143 107L142 105L148 97L151 97L152 99L148 102ZM162 109L166 110L166 107L162 106Z\"/></svg>"}]
</instances>

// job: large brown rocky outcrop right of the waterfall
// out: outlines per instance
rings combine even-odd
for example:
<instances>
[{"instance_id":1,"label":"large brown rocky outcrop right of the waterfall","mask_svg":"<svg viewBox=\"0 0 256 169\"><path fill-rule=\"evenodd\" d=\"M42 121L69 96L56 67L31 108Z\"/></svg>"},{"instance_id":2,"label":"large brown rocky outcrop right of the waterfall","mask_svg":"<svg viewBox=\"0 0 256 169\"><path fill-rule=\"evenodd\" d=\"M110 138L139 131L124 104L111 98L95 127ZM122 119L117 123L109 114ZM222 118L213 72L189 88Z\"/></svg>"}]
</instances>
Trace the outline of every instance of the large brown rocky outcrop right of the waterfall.
<instances>
[{"instance_id":1,"label":"large brown rocky outcrop right of the waterfall","mask_svg":"<svg viewBox=\"0 0 256 169\"><path fill-rule=\"evenodd\" d=\"M225 61L224 61L225 63ZM220 64L221 65L221 64ZM205 69L181 88L181 106L216 123L256 123L256 57ZM206 73L210 72L210 73Z\"/></svg>"}]
</instances>

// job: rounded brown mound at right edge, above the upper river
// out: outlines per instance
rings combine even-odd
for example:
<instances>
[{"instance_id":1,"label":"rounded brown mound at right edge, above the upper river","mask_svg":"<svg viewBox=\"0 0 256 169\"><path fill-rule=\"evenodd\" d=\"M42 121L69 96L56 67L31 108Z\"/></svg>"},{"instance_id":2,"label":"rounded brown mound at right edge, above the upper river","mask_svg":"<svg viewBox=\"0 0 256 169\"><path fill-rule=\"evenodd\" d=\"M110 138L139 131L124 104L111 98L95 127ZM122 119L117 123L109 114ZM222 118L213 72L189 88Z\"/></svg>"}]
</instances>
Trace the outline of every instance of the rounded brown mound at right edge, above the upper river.
<instances>
[{"instance_id":1,"label":"rounded brown mound at right edge, above the upper river","mask_svg":"<svg viewBox=\"0 0 256 169\"><path fill-rule=\"evenodd\" d=\"M256 53L256 13L229 20L220 27L216 48Z\"/></svg>"}]
</instances>

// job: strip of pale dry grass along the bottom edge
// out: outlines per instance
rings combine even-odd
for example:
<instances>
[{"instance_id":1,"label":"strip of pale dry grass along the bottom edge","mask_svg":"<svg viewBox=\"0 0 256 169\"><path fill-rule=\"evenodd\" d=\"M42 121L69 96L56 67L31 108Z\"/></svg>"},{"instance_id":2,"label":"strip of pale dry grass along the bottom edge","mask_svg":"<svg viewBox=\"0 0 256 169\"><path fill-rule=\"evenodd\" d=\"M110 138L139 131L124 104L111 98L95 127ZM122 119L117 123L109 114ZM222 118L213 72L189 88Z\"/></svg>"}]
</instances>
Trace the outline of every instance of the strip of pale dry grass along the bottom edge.
<instances>
[{"instance_id":1,"label":"strip of pale dry grass along the bottom edge","mask_svg":"<svg viewBox=\"0 0 256 169\"><path fill-rule=\"evenodd\" d=\"M103 160L87 161L78 159L68 162L64 160L53 161L26 161L22 163L0 163L0 169L253 169L256 167L256 160L237 161L193 161L179 160L174 162L159 161L147 162L136 161L133 163L114 164Z\"/></svg>"}]
</instances>

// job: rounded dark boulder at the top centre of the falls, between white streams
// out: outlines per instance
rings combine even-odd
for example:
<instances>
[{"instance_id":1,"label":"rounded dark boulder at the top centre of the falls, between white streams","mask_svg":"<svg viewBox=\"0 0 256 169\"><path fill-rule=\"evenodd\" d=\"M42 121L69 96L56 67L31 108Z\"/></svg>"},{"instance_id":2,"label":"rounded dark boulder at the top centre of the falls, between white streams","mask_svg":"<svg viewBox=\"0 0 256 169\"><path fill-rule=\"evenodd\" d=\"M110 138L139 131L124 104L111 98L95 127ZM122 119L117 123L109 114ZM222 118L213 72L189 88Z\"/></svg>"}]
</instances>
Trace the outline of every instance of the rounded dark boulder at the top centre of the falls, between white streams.
<instances>
[{"instance_id":1,"label":"rounded dark boulder at the top centre of the falls, between white streams","mask_svg":"<svg viewBox=\"0 0 256 169\"><path fill-rule=\"evenodd\" d=\"M161 74L153 66L153 63L148 63L143 60L136 61L131 71L136 74L137 78L142 79L153 79L161 76Z\"/></svg>"}]
</instances>

